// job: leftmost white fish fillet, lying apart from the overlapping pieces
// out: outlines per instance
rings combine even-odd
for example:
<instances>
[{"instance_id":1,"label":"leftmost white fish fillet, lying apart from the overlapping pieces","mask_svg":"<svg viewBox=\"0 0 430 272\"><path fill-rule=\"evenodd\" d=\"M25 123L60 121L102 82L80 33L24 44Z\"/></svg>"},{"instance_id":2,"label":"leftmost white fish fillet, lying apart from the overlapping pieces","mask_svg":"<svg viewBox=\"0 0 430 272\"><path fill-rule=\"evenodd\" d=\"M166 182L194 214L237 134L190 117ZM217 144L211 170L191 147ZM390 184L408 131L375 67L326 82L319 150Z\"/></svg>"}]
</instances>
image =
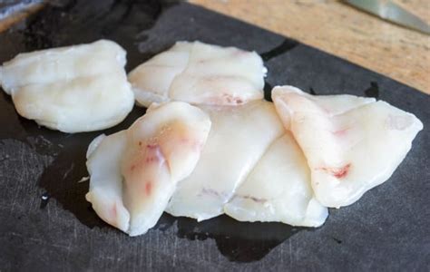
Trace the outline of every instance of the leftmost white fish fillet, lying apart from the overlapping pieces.
<instances>
[{"instance_id":1,"label":"leftmost white fish fillet, lying apart from the overlapping pieces","mask_svg":"<svg viewBox=\"0 0 430 272\"><path fill-rule=\"evenodd\" d=\"M125 63L122 47L106 40L20 53L0 67L0 84L27 119L64 132L97 131L132 111Z\"/></svg>"}]
</instances>

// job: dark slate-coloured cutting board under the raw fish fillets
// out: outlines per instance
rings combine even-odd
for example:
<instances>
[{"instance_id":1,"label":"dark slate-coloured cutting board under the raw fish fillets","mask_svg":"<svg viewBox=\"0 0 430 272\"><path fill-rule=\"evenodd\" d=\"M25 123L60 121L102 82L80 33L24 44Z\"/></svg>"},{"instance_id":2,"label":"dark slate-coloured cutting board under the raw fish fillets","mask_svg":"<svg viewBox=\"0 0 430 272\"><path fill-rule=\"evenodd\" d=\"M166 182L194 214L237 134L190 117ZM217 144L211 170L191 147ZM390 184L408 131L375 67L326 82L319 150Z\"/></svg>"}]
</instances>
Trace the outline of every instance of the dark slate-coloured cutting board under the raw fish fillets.
<instances>
[{"instance_id":1,"label":"dark slate-coloured cutting board under the raw fish fillets","mask_svg":"<svg viewBox=\"0 0 430 272\"><path fill-rule=\"evenodd\" d=\"M57 3L57 2L55 2ZM234 45L261 53L266 90L293 84L318 94L378 96L425 123L412 151L385 184L354 205L331 209L317 229L197 223L164 215L129 238L98 219L84 199L84 153L101 133L65 134L19 117L0 95L0 270L429 270L429 96L383 75L255 26L189 4L66 1L0 34L0 61L60 45L116 41L130 70L177 40ZM384 61L384 60L381 60ZM141 116L135 108L122 124Z\"/></svg>"}]
</instances>

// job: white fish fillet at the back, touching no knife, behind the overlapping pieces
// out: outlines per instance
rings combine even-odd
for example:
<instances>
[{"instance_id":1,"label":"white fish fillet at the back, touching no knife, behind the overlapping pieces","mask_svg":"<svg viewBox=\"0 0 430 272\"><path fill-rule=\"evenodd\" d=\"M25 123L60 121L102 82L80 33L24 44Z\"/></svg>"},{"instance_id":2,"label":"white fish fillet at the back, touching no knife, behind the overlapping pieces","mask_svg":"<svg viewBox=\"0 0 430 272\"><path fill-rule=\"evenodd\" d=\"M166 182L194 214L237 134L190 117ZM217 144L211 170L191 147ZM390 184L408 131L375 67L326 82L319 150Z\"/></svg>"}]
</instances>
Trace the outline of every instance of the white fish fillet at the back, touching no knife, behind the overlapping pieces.
<instances>
[{"instance_id":1,"label":"white fish fillet at the back, touching no knife, behind the overlapping pieces","mask_svg":"<svg viewBox=\"0 0 430 272\"><path fill-rule=\"evenodd\" d=\"M170 100L238 105L263 98L267 72L259 54L234 47L178 42L129 73L143 106Z\"/></svg>"}]
</instances>

